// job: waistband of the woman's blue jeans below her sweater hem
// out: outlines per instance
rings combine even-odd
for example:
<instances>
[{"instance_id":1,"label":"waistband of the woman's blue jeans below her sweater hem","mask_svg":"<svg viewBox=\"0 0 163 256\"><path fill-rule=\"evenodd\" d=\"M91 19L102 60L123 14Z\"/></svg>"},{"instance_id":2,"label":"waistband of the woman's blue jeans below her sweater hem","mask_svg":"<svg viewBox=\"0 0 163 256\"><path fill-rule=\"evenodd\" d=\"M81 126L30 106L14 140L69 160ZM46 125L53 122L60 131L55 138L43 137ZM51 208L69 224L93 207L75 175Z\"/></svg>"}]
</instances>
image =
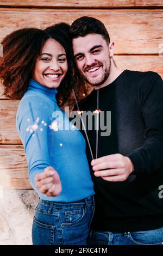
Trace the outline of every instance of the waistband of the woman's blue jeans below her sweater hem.
<instances>
[{"instance_id":1,"label":"waistband of the woman's blue jeans below her sweater hem","mask_svg":"<svg viewBox=\"0 0 163 256\"><path fill-rule=\"evenodd\" d=\"M47 206L61 206L61 205L82 204L82 203L87 204L90 202L93 202L93 203L95 202L94 196L87 197L74 202L54 202L54 201L43 200L40 198L40 203L45 204Z\"/></svg>"}]
</instances>

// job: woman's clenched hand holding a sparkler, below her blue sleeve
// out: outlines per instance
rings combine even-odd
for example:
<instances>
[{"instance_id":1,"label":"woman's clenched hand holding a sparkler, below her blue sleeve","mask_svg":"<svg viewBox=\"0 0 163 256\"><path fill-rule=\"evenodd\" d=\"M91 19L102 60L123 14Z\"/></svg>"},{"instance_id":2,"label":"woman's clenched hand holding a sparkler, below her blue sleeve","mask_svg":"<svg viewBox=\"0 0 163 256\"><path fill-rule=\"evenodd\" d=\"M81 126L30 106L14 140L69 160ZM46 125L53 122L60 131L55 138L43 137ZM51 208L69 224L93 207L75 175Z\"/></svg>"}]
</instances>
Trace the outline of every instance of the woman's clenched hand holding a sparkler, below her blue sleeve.
<instances>
[{"instance_id":1,"label":"woman's clenched hand holding a sparkler, below her blue sleeve","mask_svg":"<svg viewBox=\"0 0 163 256\"><path fill-rule=\"evenodd\" d=\"M35 176L36 187L39 188L42 194L49 197L56 197L60 194L61 182L57 171L49 166L45 172L39 173Z\"/></svg>"}]
</instances>

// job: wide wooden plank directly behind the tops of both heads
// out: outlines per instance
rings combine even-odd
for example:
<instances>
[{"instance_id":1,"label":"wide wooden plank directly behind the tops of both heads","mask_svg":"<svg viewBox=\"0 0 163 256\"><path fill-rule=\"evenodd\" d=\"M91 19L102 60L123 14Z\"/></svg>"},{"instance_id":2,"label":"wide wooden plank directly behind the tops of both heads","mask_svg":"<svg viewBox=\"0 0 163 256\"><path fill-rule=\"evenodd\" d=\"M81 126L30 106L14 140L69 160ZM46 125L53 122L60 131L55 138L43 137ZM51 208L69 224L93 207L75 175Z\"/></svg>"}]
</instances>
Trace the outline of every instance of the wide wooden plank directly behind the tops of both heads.
<instances>
[{"instance_id":1,"label":"wide wooden plank directly behind the tops of both heads","mask_svg":"<svg viewBox=\"0 0 163 256\"><path fill-rule=\"evenodd\" d=\"M72 23L80 16L104 22L116 54L158 54L163 41L163 10L76 10L1 8L0 40L19 28L45 28L57 22Z\"/></svg>"}]
</instances>

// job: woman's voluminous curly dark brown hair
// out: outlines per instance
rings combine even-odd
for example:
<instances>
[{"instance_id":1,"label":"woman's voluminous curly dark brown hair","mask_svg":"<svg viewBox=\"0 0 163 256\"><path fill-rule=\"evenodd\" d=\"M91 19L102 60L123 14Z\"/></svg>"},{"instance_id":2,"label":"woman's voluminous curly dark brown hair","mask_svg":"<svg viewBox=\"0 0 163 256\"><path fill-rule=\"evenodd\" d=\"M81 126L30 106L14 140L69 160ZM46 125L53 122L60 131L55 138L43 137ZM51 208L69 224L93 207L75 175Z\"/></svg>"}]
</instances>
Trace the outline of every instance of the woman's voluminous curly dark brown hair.
<instances>
[{"instance_id":1,"label":"woman's voluminous curly dark brown hair","mask_svg":"<svg viewBox=\"0 0 163 256\"><path fill-rule=\"evenodd\" d=\"M72 45L69 36L70 26L58 23L44 30L23 28L7 35L3 41L3 57L0 57L0 79L4 95L9 99L20 100L28 89L37 57L49 38L58 41L66 51L68 71L58 87L57 100L64 106L71 95L72 88L79 96L80 75L74 65Z\"/></svg>"}]
</instances>

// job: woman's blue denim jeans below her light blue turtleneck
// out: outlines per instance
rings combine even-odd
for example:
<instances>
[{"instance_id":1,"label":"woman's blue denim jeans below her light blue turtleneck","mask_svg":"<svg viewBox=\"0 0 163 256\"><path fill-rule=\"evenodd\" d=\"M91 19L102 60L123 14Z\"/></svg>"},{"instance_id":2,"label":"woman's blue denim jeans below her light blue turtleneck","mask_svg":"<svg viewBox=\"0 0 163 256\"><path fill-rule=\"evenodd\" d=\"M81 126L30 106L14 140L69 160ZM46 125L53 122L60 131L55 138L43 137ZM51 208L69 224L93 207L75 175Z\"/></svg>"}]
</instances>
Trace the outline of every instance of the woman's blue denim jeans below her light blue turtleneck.
<instances>
[{"instance_id":1,"label":"woman's blue denim jeans below her light blue turtleneck","mask_svg":"<svg viewBox=\"0 0 163 256\"><path fill-rule=\"evenodd\" d=\"M94 197L73 203L40 199L33 220L33 245L87 245L94 209Z\"/></svg>"}]
</instances>

